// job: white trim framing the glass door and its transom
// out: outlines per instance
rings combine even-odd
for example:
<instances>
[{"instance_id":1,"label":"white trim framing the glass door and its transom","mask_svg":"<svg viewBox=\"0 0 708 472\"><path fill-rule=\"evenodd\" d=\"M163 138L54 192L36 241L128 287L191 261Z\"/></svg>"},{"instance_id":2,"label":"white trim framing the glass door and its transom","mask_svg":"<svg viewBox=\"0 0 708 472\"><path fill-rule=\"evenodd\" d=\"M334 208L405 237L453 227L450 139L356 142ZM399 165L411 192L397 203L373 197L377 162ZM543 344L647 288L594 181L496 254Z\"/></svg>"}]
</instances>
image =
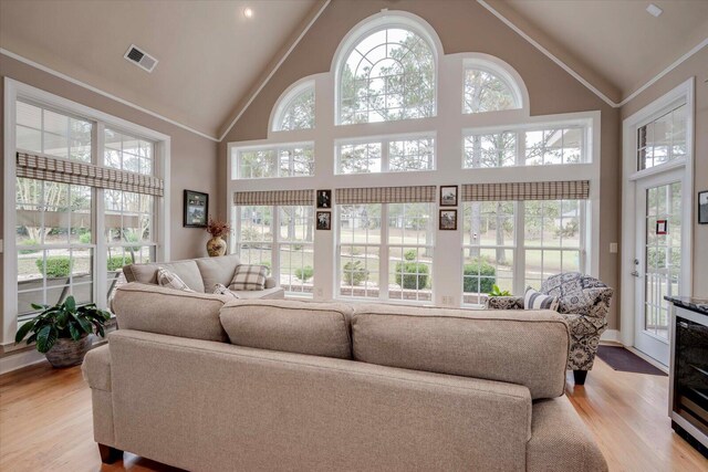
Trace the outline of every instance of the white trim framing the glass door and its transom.
<instances>
[{"instance_id":1,"label":"white trim framing the glass door and its transom","mask_svg":"<svg viewBox=\"0 0 708 472\"><path fill-rule=\"evenodd\" d=\"M637 180L644 177L658 176L671 170L683 170L683 214L681 221L686 222L686 231L681 233L681 247L688 250L681 251L681 277L686 281L681 285L681 295L690 296L693 293L693 224L694 224L694 153L695 153L695 87L696 78L690 77L662 97L652 102L634 115L624 119L622 124L622 214L634 216L637 203L635 201ZM686 156L669 160L658 166L644 170L637 170L636 133L637 129L654 118L660 116L678 102L686 103ZM635 219L622 219L622 261L621 293L622 305L620 310L621 331L620 338L625 346L634 346L635 342L635 290L636 281L631 272L634 270L637 234Z\"/></svg>"}]
</instances>

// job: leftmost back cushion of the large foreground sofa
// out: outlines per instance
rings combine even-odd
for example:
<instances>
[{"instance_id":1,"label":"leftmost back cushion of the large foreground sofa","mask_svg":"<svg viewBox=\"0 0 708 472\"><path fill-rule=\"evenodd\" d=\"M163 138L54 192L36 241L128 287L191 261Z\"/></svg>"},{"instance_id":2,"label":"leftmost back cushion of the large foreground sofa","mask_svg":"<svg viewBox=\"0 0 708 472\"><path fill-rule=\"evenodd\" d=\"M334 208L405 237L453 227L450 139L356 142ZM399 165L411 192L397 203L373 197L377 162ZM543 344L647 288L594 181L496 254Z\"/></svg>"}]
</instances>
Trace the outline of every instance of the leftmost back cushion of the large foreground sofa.
<instances>
[{"instance_id":1,"label":"leftmost back cushion of the large foreground sofa","mask_svg":"<svg viewBox=\"0 0 708 472\"><path fill-rule=\"evenodd\" d=\"M228 337L219 310L230 300L132 282L116 289L113 311L121 329L223 343Z\"/></svg>"}]
</instances>

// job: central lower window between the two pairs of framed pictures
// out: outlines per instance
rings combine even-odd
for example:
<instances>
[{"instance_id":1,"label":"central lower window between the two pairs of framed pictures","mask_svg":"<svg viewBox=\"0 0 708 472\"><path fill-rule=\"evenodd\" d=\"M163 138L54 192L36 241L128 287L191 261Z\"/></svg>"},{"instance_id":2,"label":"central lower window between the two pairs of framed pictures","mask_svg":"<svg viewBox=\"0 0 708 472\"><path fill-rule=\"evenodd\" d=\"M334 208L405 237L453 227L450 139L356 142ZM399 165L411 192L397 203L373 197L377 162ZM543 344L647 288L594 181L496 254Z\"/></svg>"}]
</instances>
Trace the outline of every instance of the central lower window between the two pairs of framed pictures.
<instances>
[{"instance_id":1,"label":"central lower window between the two pairs of framed pictures","mask_svg":"<svg viewBox=\"0 0 708 472\"><path fill-rule=\"evenodd\" d=\"M433 300L431 203L341 204L337 210L340 296Z\"/></svg>"}]
</instances>

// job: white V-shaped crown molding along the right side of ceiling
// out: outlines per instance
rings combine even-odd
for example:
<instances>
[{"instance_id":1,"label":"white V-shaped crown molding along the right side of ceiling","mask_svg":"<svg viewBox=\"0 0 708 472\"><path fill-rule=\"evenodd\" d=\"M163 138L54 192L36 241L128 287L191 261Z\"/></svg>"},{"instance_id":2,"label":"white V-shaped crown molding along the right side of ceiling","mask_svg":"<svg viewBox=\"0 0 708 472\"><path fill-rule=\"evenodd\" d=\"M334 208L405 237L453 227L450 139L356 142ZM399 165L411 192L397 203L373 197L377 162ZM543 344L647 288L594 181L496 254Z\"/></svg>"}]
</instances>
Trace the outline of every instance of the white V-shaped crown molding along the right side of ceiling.
<instances>
[{"instance_id":1,"label":"white V-shaped crown molding along the right side of ceiling","mask_svg":"<svg viewBox=\"0 0 708 472\"><path fill-rule=\"evenodd\" d=\"M531 45L533 45L535 49L538 49L546 57L549 57L551 61L553 61L555 64L558 64L561 69L563 69L565 72L568 72L570 75L572 75L577 82L583 84L587 90L590 90L592 93L597 95L597 97L600 97L603 102L605 102L607 105L612 106L613 108L620 108L623 105L626 105L627 103L632 102L642 92L644 92L645 90L647 90L648 87L654 85L657 81L659 81L666 74L671 72L674 69L678 67L680 64L683 64L685 61L687 61L689 57L691 57L698 51L700 51L706 45L708 45L708 38L706 38L700 43L698 43L696 46L694 46L690 51L688 51L686 54L684 54L679 59L677 59L674 63L671 63L664 71L659 72L652 80L649 80L644 85L642 85L639 88L637 88L636 91L634 91L633 93L627 95L625 98L623 98L621 102L614 102L613 99L607 97L605 94L603 94L600 90L597 90L597 87L595 87L593 84L587 82L582 75L580 75L577 72L575 72L570 65L565 64L556 55L554 55L548 49L543 48L538 41L535 41L529 34L523 32L523 30L521 30L519 27L517 27L511 20L509 20L507 17L504 17L499 11L497 11L492 6L487 3L486 0L477 0L477 2L479 4L481 4L485 9L487 9L491 14L497 17L507 27L511 28L517 34L519 34L521 38L527 40Z\"/></svg>"}]
</instances>

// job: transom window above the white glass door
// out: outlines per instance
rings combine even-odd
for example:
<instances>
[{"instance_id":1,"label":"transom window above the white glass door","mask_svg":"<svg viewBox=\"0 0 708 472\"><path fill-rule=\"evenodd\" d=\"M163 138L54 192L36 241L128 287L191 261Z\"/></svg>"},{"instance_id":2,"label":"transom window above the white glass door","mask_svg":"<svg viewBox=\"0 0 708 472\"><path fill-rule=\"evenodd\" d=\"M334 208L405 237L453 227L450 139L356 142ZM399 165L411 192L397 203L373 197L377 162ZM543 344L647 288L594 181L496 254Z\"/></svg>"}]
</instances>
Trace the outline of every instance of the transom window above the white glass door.
<instances>
[{"instance_id":1,"label":"transom window above the white glass door","mask_svg":"<svg viewBox=\"0 0 708 472\"><path fill-rule=\"evenodd\" d=\"M637 130L637 170L686 156L686 104Z\"/></svg>"}]
</instances>

